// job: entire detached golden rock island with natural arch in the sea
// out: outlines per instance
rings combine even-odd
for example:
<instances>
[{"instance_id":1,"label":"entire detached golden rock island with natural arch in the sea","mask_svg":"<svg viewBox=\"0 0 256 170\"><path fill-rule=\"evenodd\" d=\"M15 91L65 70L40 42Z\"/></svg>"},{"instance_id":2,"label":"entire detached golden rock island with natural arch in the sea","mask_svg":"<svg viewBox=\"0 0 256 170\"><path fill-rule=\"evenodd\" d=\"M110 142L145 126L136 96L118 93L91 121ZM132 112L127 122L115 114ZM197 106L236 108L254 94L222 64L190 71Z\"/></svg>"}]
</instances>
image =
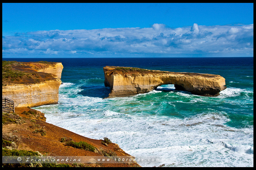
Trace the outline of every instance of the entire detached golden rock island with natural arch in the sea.
<instances>
[{"instance_id":1,"label":"entire detached golden rock island with natural arch in the sea","mask_svg":"<svg viewBox=\"0 0 256 170\"><path fill-rule=\"evenodd\" d=\"M106 66L105 86L111 92L108 97L125 97L147 93L164 84L174 84L177 90L189 91L200 96L218 96L226 89L220 75L201 73L175 73L132 67Z\"/></svg>"}]
</instances>

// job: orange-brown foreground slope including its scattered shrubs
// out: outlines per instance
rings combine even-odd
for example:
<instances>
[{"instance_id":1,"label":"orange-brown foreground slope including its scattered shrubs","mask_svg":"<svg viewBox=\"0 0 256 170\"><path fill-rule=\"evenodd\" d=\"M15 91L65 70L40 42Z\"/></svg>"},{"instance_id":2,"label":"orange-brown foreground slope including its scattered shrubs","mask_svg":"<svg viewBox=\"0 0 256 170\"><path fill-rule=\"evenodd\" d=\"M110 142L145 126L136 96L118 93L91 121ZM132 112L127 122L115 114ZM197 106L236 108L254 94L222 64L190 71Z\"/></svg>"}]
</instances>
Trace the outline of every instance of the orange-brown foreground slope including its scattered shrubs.
<instances>
[{"instance_id":1,"label":"orange-brown foreground slope including its scattered shrubs","mask_svg":"<svg viewBox=\"0 0 256 170\"><path fill-rule=\"evenodd\" d=\"M125 153L116 143L111 143L110 141L110 143L106 145L106 143L104 144L104 140L96 140L78 135L64 128L47 123L45 120L44 113L31 108L16 107L15 113L3 112L3 156L8 156L8 154L13 154L13 152L16 156L22 156L20 154L26 152L32 154L39 152L44 156L126 156L132 158L131 155ZM104 136L102 136L102 138L103 137ZM80 145L87 143L87 145L91 146L88 148L93 148L94 151L87 148L80 148L79 145L75 145L77 143ZM137 163L100 164L96 163L96 161L90 164L67 164L68 163L66 163L65 166L139 167ZM22 165L6 164L4 166Z\"/></svg>"}]
</instances>

